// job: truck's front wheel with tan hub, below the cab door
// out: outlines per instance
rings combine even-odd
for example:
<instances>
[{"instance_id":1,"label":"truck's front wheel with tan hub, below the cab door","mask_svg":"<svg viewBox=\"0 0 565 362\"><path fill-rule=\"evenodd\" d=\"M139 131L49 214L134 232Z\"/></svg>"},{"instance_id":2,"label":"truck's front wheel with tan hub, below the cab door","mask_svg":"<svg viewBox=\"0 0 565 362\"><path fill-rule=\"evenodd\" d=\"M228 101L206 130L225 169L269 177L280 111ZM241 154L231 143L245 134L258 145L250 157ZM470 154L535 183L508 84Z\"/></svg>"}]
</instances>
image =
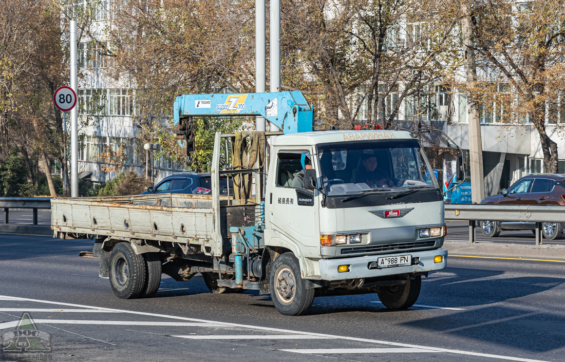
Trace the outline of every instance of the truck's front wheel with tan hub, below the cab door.
<instances>
[{"instance_id":1,"label":"truck's front wheel with tan hub, below the cab door","mask_svg":"<svg viewBox=\"0 0 565 362\"><path fill-rule=\"evenodd\" d=\"M273 304L285 316L303 315L314 301L314 288L306 288L298 259L292 252L285 252L275 259L270 284Z\"/></svg>"}]
</instances>

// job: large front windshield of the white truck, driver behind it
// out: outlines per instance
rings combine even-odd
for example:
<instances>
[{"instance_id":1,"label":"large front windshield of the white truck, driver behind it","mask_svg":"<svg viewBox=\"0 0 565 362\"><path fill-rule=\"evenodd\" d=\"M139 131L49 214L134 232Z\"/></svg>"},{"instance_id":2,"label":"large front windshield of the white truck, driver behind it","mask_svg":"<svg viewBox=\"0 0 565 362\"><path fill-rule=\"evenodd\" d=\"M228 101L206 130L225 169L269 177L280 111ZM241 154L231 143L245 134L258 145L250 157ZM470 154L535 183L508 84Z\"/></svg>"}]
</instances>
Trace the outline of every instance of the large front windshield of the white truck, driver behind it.
<instances>
[{"instance_id":1,"label":"large front windshield of the white truck, driver behind it","mask_svg":"<svg viewBox=\"0 0 565 362\"><path fill-rule=\"evenodd\" d=\"M324 144L318 156L328 196L438 187L415 139Z\"/></svg>"}]
</instances>

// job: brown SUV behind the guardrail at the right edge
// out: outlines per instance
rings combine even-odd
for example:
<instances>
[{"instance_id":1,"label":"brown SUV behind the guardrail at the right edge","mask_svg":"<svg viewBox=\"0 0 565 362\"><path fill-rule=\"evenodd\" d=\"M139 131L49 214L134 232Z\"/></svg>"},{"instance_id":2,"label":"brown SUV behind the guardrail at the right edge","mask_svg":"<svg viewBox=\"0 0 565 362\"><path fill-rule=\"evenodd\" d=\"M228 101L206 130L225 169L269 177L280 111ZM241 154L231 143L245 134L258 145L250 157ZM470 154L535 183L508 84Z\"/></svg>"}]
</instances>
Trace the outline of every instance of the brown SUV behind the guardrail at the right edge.
<instances>
[{"instance_id":1,"label":"brown SUV behind the guardrail at the right edge","mask_svg":"<svg viewBox=\"0 0 565 362\"><path fill-rule=\"evenodd\" d=\"M565 175L533 173L524 176L508 190L502 189L500 194L486 197L481 204L565 206ZM561 237L564 225L543 223L542 234L546 239L557 239ZM486 237L496 237L501 230L534 230L535 228L535 223L481 221L481 229Z\"/></svg>"}]
</instances>

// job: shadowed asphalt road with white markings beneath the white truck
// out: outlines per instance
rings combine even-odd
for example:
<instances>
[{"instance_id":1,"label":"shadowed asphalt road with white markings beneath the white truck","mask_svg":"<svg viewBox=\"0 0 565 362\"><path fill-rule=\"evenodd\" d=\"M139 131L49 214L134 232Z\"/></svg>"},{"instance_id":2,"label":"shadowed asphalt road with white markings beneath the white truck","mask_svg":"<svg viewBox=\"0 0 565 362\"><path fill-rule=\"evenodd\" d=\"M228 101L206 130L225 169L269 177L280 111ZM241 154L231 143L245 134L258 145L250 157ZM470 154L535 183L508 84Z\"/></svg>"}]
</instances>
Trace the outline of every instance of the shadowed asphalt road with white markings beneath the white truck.
<instances>
[{"instance_id":1,"label":"shadowed asphalt road with white markings beneath the white truck","mask_svg":"<svg viewBox=\"0 0 565 362\"><path fill-rule=\"evenodd\" d=\"M200 276L118 299L98 259L78 257L91 248L0 234L0 335L29 312L53 361L565 360L563 263L450 258L408 310L369 294L316 298L288 317L253 291L209 293Z\"/></svg>"}]
</instances>

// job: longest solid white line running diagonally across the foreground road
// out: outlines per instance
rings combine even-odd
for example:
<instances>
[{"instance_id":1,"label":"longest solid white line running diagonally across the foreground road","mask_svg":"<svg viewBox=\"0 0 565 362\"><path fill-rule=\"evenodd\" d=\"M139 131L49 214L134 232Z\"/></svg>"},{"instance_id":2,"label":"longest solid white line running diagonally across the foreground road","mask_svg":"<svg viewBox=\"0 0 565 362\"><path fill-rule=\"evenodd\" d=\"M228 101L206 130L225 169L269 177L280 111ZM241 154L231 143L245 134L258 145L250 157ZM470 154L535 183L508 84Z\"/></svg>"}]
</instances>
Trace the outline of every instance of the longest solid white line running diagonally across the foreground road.
<instances>
[{"instance_id":1,"label":"longest solid white line running diagonally across the foreground road","mask_svg":"<svg viewBox=\"0 0 565 362\"><path fill-rule=\"evenodd\" d=\"M101 310L106 310L106 311L117 311L117 312L121 312L121 313L129 313L129 314L136 314L136 315L142 315L142 316L153 316L153 317L162 317L162 318L185 320L185 321L205 322L205 323L216 324L216 325L220 325L220 326L231 326L231 327L249 328L249 329L257 329L257 330L268 330L270 332L282 332L282 333L303 334L303 335L318 335L319 337L333 338L333 339L343 339L345 341L377 343L377 344L385 344L387 346L397 346L397 347L421 348L423 350L429 350L429 351L435 351L435 352L447 352L447 353L453 353L453 354L459 354L459 355L497 358L497 359L501 359L501 360L520 361L520 362L549 362L549 361L544 361L544 360L534 360L534 359L527 359L527 358L520 358L520 357L493 355L493 354L485 354L485 353L480 353L480 352L450 350L449 348L441 348L441 347L419 346L418 344L410 344L410 343L380 341L379 339L346 337L344 335L332 335L332 334L324 334L324 333L302 332L302 331L292 330L292 329L271 328L271 327L262 327L262 326L247 325L247 324L209 321L209 320L189 318L189 317L170 316L170 315L159 314L159 313L148 313L148 312L128 311L128 310L125 310L125 309L93 307L93 306L85 306L83 304L51 302L50 300L19 298L19 297L5 296L5 295L0 295L0 298L2 298L2 296L4 296L5 298L14 298L16 300L27 301L27 302L57 304L59 306L80 307L80 308L89 308L89 309L101 309Z\"/></svg>"}]
</instances>

